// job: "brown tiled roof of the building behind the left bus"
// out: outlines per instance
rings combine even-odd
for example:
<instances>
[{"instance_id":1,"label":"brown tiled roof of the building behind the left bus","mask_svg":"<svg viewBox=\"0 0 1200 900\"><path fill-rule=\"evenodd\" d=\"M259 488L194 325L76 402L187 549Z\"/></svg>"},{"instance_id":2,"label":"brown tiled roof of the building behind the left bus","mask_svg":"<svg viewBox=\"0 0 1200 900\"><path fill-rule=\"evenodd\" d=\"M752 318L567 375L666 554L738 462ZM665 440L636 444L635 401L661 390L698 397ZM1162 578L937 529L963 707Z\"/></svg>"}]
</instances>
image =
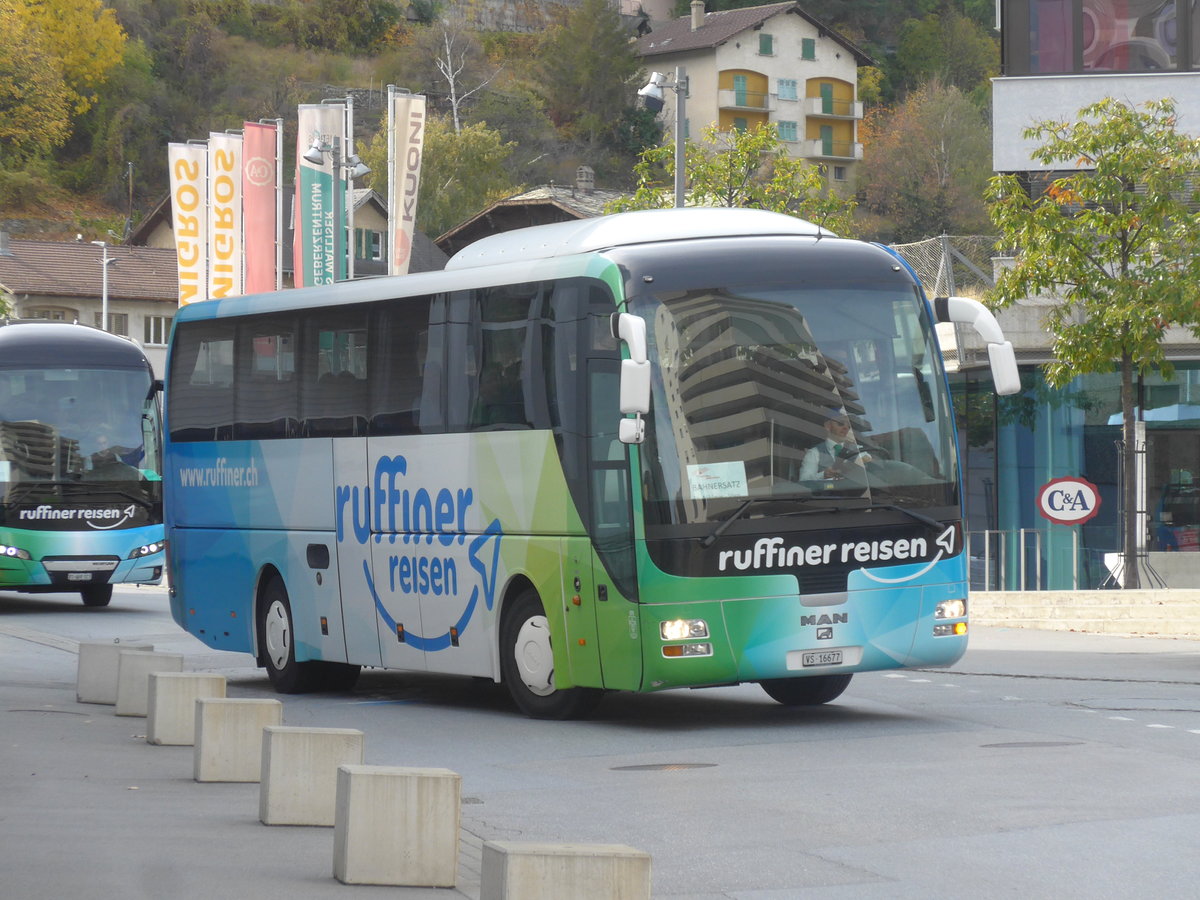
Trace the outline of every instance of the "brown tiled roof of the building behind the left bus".
<instances>
[{"instance_id":1,"label":"brown tiled roof of the building behind the left bus","mask_svg":"<svg viewBox=\"0 0 1200 900\"><path fill-rule=\"evenodd\" d=\"M100 298L103 248L88 241L10 240L0 252L0 284L22 295ZM109 246L108 296L115 300L179 300L175 251Z\"/></svg>"}]
</instances>

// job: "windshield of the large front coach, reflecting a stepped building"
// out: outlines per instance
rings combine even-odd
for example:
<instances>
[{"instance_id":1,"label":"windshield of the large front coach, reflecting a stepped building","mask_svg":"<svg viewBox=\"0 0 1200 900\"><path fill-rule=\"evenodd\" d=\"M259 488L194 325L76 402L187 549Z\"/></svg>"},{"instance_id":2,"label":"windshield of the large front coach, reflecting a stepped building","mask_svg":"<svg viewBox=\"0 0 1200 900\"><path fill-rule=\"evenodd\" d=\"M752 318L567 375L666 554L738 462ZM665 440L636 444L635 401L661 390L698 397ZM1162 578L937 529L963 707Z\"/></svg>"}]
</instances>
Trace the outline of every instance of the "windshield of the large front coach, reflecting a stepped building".
<instances>
[{"instance_id":1,"label":"windshield of the large front coach, reflecting a stepped building","mask_svg":"<svg viewBox=\"0 0 1200 900\"><path fill-rule=\"evenodd\" d=\"M941 356L916 287L841 276L768 274L634 299L655 367L648 523L721 521L746 500L748 516L772 515L772 499L793 502L776 512L797 498L958 503Z\"/></svg>"}]
</instances>

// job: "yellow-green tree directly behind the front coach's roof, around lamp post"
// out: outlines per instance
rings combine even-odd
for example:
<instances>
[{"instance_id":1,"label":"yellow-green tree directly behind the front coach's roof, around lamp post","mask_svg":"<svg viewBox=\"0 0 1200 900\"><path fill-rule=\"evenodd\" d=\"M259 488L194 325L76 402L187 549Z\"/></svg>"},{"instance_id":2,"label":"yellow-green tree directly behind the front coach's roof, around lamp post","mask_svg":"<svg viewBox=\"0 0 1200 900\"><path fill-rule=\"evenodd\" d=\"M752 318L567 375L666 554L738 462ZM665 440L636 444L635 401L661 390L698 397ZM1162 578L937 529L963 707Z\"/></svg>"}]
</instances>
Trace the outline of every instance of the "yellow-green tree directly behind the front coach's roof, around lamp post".
<instances>
[{"instance_id":1,"label":"yellow-green tree directly behind the front coach's roof, around lamp post","mask_svg":"<svg viewBox=\"0 0 1200 900\"><path fill-rule=\"evenodd\" d=\"M816 166L788 156L768 126L722 133L710 125L703 142L686 142L684 158L689 206L766 209L806 218L835 234L853 232L854 202L832 193ZM644 151L635 173L637 190L610 204L608 212L673 205L673 145Z\"/></svg>"}]
</instances>

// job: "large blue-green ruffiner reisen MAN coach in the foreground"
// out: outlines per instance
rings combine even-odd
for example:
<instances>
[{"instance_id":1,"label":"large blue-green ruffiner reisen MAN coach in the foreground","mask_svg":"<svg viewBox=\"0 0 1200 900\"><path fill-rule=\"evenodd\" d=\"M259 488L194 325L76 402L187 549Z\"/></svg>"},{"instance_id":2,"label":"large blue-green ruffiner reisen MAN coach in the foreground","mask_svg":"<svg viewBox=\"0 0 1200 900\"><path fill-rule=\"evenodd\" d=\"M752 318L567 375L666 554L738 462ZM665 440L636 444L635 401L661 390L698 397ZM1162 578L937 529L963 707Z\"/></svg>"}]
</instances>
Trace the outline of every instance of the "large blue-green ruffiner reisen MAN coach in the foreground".
<instances>
[{"instance_id":1,"label":"large blue-green ruffiner reisen MAN coach in the foreground","mask_svg":"<svg viewBox=\"0 0 1200 900\"><path fill-rule=\"evenodd\" d=\"M191 304L167 373L175 620L283 692L362 666L824 703L967 642L938 320L886 248L785 215L628 212L444 271ZM856 450L816 476L839 418ZM830 470L836 469L836 470Z\"/></svg>"}]
</instances>

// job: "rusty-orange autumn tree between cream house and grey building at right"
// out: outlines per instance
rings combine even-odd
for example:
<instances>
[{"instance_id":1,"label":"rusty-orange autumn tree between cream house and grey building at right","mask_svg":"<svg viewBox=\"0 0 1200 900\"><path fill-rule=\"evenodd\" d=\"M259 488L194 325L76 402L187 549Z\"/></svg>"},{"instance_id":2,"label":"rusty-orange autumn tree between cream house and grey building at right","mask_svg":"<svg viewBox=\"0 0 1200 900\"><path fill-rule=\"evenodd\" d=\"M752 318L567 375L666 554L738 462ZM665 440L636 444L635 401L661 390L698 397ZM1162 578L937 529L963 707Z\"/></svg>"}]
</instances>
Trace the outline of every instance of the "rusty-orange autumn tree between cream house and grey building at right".
<instances>
[{"instance_id":1,"label":"rusty-orange autumn tree between cream house and grey building at right","mask_svg":"<svg viewBox=\"0 0 1200 900\"><path fill-rule=\"evenodd\" d=\"M991 126L962 92L931 82L863 122L863 210L892 241L988 230L983 192L991 172Z\"/></svg>"}]
</instances>

